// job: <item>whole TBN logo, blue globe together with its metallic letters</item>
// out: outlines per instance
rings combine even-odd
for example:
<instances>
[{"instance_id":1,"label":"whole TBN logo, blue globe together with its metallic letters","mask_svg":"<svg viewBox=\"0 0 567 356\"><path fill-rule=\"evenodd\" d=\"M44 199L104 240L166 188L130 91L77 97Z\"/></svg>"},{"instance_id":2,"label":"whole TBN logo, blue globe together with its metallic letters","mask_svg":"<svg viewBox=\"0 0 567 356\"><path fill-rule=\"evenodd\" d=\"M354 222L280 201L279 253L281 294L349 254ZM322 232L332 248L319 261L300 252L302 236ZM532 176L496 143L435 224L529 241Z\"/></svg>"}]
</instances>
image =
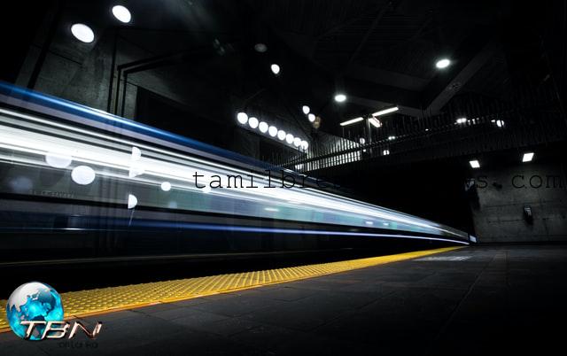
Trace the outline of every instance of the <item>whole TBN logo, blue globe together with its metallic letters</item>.
<instances>
[{"instance_id":1,"label":"whole TBN logo, blue globe together with its metallic letters","mask_svg":"<svg viewBox=\"0 0 567 356\"><path fill-rule=\"evenodd\" d=\"M57 290L42 282L28 282L12 292L6 304L6 315L10 328L17 336L26 340L69 337L81 329L89 338L100 333L103 323L98 321L90 332L81 322L63 320L63 304Z\"/></svg>"}]
</instances>

